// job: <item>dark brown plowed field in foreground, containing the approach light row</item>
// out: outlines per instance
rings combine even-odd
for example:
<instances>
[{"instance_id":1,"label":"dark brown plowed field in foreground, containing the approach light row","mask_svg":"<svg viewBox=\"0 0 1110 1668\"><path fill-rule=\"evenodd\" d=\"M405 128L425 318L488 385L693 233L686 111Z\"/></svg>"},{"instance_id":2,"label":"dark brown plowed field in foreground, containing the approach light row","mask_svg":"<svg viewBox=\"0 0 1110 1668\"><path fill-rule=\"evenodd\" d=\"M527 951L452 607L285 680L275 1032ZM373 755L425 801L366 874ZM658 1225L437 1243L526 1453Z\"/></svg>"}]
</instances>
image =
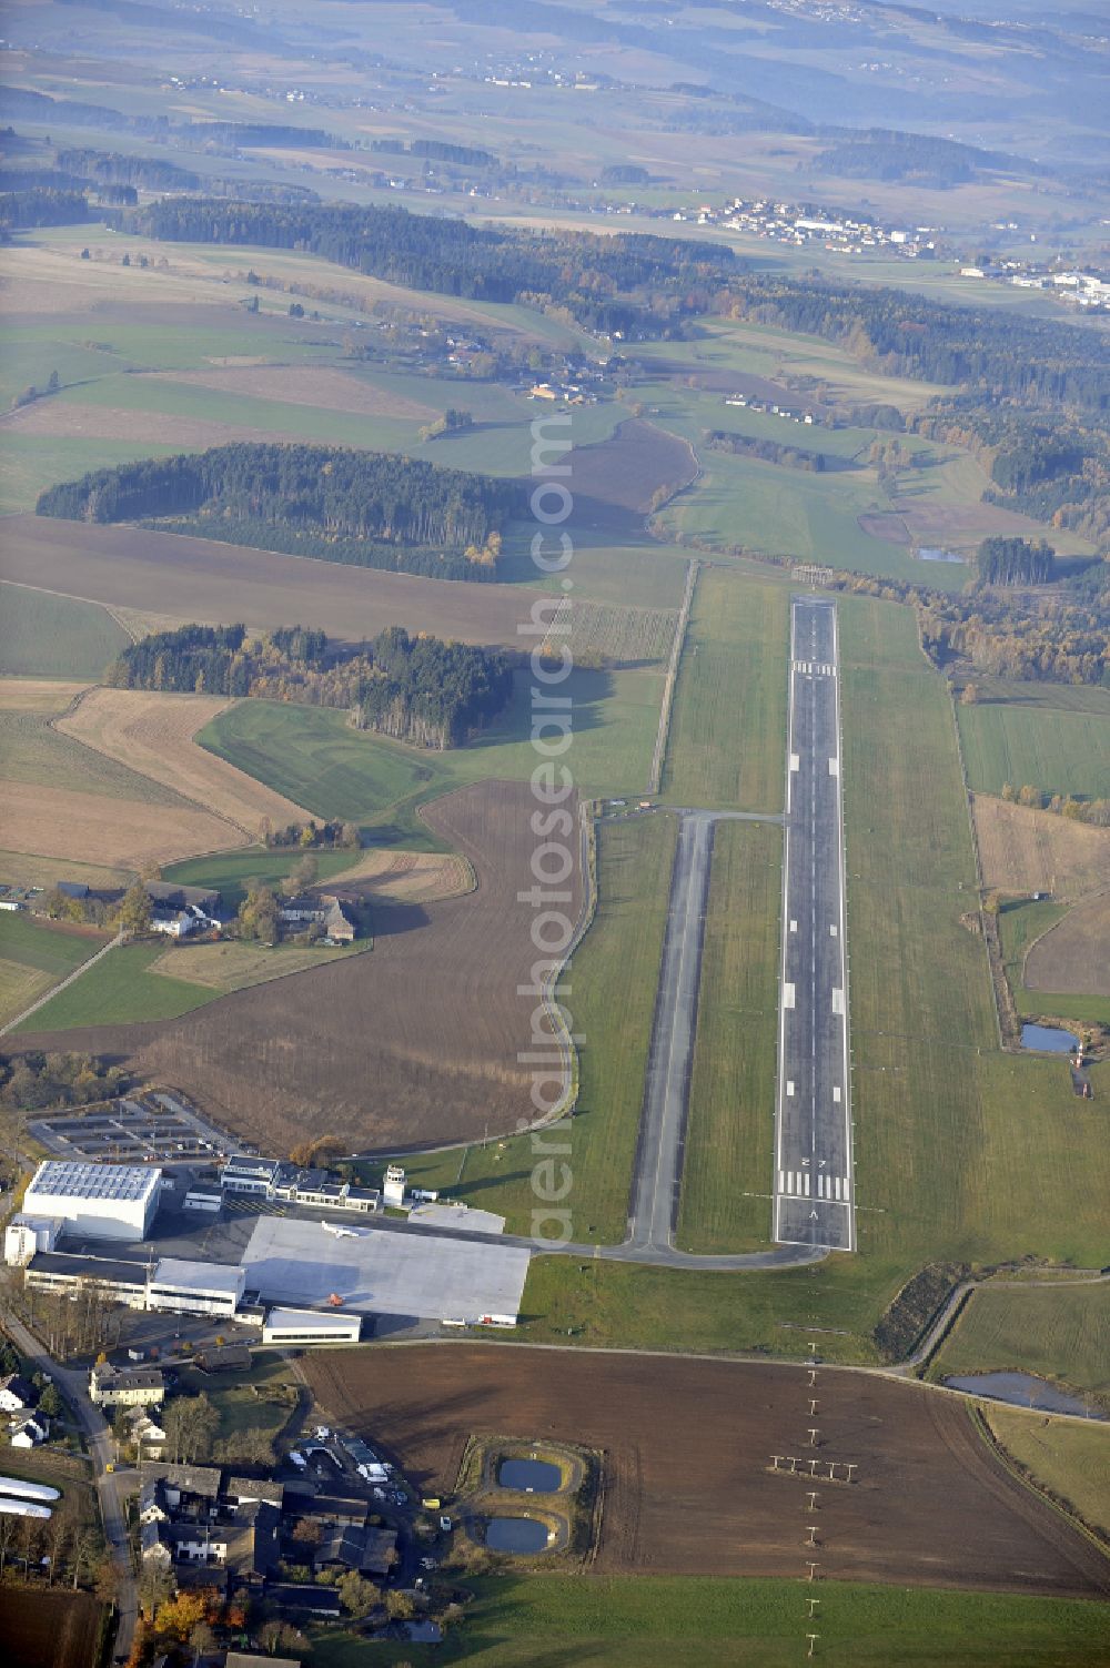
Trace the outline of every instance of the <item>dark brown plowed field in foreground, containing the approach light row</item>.
<instances>
[{"instance_id":1,"label":"dark brown plowed field in foreground, containing the approach light row","mask_svg":"<svg viewBox=\"0 0 1110 1668\"><path fill-rule=\"evenodd\" d=\"M603 1449L599 1575L803 1581L813 1560L820 1580L1110 1591L1105 1558L998 1465L966 1404L923 1384L512 1344L329 1351L304 1373L424 1493L451 1493L472 1433Z\"/></svg>"}]
</instances>

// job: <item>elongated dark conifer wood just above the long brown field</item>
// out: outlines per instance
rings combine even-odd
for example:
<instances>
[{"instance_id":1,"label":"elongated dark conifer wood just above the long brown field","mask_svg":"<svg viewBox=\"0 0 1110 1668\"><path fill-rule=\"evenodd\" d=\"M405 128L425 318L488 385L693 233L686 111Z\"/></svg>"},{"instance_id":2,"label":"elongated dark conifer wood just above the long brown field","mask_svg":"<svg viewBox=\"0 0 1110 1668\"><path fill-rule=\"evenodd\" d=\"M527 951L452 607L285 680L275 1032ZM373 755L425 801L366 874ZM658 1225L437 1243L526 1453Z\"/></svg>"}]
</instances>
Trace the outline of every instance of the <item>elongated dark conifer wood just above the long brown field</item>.
<instances>
[{"instance_id":1,"label":"elongated dark conifer wood just above the long brown field","mask_svg":"<svg viewBox=\"0 0 1110 1668\"><path fill-rule=\"evenodd\" d=\"M237 444L48 487L38 515L160 522L367 567L489 579L519 487L382 452ZM492 554L491 554L492 552Z\"/></svg>"}]
</instances>

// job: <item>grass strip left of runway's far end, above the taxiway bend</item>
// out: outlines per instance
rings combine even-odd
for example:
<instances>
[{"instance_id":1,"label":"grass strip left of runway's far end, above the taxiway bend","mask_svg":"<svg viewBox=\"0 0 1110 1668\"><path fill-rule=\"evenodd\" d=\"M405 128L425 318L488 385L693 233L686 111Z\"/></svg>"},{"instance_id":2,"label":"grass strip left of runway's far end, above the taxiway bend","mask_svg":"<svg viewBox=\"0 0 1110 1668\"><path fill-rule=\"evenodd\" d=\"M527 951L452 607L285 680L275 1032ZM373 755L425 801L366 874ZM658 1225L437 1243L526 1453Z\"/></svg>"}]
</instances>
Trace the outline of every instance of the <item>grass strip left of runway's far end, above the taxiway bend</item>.
<instances>
[{"instance_id":1,"label":"grass strip left of runway's far end, above the taxiway bend","mask_svg":"<svg viewBox=\"0 0 1110 1668\"><path fill-rule=\"evenodd\" d=\"M701 570L663 766L666 801L781 811L788 654L786 585Z\"/></svg>"}]
</instances>

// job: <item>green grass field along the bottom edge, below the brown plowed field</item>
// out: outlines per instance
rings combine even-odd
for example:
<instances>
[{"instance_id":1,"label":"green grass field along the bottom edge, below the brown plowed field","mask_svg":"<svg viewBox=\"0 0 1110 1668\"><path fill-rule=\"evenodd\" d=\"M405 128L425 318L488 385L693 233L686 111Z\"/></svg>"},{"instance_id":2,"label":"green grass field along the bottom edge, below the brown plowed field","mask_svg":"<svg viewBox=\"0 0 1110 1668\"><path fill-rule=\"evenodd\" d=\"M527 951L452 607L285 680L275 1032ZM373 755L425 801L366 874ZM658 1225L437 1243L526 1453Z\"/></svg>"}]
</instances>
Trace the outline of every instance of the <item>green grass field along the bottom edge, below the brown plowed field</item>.
<instances>
[{"instance_id":1,"label":"green grass field along the bottom edge, below the brown plowed field","mask_svg":"<svg viewBox=\"0 0 1110 1668\"><path fill-rule=\"evenodd\" d=\"M798 1581L711 1576L486 1576L442 1646L412 1668L793 1668L806 1633L840 1668L1095 1668L1105 1610L1082 1600L821 1583L816 1623ZM315 1630L314 1668L396 1663L396 1646Z\"/></svg>"}]
</instances>

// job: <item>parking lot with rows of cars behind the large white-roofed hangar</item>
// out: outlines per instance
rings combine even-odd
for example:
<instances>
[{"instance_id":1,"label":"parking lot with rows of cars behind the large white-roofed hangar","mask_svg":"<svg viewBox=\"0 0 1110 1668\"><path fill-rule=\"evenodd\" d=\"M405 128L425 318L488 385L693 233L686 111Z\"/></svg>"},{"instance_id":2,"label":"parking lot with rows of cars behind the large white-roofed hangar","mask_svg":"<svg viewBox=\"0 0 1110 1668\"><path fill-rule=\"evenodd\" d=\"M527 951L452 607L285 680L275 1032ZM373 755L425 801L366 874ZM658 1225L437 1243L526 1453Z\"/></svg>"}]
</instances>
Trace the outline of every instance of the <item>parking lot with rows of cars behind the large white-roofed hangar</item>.
<instances>
[{"instance_id":1,"label":"parking lot with rows of cars behind the large white-roofed hangar","mask_svg":"<svg viewBox=\"0 0 1110 1668\"><path fill-rule=\"evenodd\" d=\"M122 1096L87 1113L38 1118L30 1133L55 1158L117 1164L212 1161L235 1151L225 1129L164 1091Z\"/></svg>"}]
</instances>

